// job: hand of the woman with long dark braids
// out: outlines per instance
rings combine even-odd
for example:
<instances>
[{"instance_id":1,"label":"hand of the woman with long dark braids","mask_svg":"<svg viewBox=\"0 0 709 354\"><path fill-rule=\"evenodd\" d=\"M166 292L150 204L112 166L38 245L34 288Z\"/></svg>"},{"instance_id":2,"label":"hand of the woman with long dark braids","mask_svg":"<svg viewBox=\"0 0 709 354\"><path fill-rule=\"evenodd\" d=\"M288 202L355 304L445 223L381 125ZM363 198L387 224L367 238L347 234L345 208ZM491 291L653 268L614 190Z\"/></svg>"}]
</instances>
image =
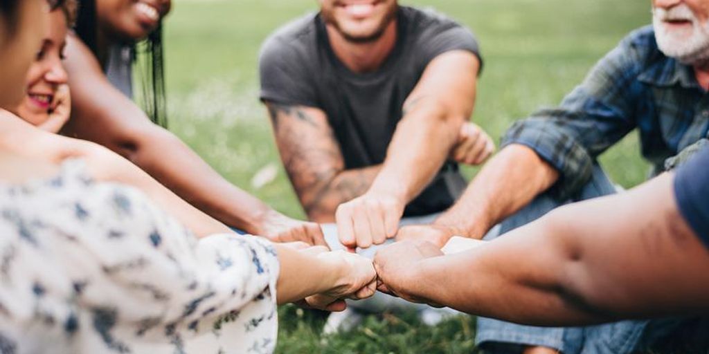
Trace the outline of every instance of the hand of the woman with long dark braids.
<instances>
[{"instance_id":1,"label":"hand of the woman with long dark braids","mask_svg":"<svg viewBox=\"0 0 709 354\"><path fill-rule=\"evenodd\" d=\"M320 224L291 219L274 210L264 217L259 236L276 243L301 241L311 246L328 246Z\"/></svg>"}]
</instances>

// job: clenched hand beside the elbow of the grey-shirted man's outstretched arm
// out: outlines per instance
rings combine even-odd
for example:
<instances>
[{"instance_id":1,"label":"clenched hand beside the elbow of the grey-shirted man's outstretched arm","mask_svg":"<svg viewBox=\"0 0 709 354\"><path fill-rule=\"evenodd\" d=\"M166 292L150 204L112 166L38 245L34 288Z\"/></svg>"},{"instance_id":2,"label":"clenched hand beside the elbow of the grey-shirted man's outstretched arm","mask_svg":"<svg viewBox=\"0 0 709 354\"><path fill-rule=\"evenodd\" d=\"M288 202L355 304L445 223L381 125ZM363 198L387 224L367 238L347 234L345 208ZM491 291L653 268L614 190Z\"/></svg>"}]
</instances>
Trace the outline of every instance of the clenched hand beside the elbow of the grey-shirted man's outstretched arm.
<instances>
[{"instance_id":1,"label":"clenched hand beside the elbow of the grey-shirted man's outstretched arm","mask_svg":"<svg viewBox=\"0 0 709 354\"><path fill-rule=\"evenodd\" d=\"M478 125L465 122L460 128L458 142L450 156L461 164L479 165L493 152L495 152L493 139Z\"/></svg>"}]
</instances>

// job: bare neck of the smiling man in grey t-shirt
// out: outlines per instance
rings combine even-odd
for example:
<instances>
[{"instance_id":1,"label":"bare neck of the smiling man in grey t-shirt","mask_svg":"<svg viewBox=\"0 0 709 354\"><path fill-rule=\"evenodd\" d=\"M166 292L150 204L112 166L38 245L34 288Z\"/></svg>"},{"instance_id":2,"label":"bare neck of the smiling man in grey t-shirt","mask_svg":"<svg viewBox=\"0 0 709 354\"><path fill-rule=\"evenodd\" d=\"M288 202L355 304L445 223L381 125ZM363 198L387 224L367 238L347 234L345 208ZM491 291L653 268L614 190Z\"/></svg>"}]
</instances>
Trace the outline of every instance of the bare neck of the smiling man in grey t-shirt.
<instances>
[{"instance_id":1,"label":"bare neck of the smiling man in grey t-shirt","mask_svg":"<svg viewBox=\"0 0 709 354\"><path fill-rule=\"evenodd\" d=\"M386 26L384 33L372 42L351 42L333 25L326 25L333 52L347 69L358 74L374 72L381 67L396 45L396 20Z\"/></svg>"}]
</instances>

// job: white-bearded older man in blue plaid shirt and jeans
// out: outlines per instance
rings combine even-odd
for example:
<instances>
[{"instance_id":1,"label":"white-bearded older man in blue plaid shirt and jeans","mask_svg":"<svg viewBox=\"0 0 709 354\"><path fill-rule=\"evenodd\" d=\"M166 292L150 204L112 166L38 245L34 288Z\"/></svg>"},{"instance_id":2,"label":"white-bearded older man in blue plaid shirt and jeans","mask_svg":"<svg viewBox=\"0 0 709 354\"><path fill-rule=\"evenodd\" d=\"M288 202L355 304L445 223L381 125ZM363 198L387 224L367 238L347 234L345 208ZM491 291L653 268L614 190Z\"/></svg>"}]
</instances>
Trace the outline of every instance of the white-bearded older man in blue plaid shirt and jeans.
<instances>
[{"instance_id":1,"label":"white-bearded older man in blue plaid shirt and jeans","mask_svg":"<svg viewBox=\"0 0 709 354\"><path fill-rule=\"evenodd\" d=\"M653 176L708 145L709 0L652 8L653 25L628 35L557 108L516 122L453 207L397 239L443 246L455 235L481 239L496 224L505 234L568 202L615 193L597 158L633 130ZM631 353L679 323L549 329L479 319L477 341L492 353Z\"/></svg>"}]
</instances>

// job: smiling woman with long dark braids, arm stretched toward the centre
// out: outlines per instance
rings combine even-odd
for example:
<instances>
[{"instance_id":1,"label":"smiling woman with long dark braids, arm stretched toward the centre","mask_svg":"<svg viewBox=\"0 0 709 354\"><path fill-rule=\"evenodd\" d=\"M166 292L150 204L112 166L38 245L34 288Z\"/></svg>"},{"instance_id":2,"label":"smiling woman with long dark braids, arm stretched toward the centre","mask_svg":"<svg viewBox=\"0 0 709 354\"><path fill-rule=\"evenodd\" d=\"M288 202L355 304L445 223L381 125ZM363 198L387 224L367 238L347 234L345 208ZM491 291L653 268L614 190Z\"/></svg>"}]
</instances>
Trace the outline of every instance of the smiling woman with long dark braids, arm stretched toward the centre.
<instances>
[{"instance_id":1,"label":"smiling woman with long dark braids, arm stretched toward the centre","mask_svg":"<svg viewBox=\"0 0 709 354\"><path fill-rule=\"evenodd\" d=\"M277 242L324 245L318 224L286 217L240 190L161 127L167 120L160 29L170 6L169 0L81 1L76 33L67 40L72 115L63 133L118 152L230 227ZM145 111L132 101L137 56L147 63Z\"/></svg>"}]
</instances>

